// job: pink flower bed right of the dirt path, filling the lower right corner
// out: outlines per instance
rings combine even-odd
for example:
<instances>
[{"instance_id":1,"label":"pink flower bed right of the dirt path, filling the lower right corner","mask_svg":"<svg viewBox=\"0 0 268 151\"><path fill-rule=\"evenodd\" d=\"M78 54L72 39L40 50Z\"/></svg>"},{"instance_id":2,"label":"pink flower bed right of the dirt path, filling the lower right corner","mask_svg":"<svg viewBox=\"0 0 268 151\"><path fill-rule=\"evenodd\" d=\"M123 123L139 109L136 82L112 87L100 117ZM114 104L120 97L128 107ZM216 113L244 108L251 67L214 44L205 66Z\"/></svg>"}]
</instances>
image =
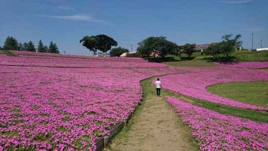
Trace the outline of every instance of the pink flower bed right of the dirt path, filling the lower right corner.
<instances>
[{"instance_id":1,"label":"pink flower bed right of the dirt path, filling the lower right corner","mask_svg":"<svg viewBox=\"0 0 268 151\"><path fill-rule=\"evenodd\" d=\"M166 97L202 151L267 151L268 124L223 115Z\"/></svg>"}]
</instances>

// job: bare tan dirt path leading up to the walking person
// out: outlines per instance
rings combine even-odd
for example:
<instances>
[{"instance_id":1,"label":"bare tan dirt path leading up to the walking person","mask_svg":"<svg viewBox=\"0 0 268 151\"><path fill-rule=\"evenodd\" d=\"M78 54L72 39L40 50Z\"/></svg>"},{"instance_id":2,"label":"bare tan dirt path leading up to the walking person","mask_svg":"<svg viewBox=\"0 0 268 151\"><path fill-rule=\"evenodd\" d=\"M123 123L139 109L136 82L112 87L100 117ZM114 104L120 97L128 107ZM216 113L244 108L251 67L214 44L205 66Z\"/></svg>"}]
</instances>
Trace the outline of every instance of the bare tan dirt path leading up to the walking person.
<instances>
[{"instance_id":1,"label":"bare tan dirt path leading up to the walking person","mask_svg":"<svg viewBox=\"0 0 268 151\"><path fill-rule=\"evenodd\" d=\"M112 151L196 151L191 133L181 123L164 97L148 94L133 125L123 136L115 137Z\"/></svg>"}]
</instances>

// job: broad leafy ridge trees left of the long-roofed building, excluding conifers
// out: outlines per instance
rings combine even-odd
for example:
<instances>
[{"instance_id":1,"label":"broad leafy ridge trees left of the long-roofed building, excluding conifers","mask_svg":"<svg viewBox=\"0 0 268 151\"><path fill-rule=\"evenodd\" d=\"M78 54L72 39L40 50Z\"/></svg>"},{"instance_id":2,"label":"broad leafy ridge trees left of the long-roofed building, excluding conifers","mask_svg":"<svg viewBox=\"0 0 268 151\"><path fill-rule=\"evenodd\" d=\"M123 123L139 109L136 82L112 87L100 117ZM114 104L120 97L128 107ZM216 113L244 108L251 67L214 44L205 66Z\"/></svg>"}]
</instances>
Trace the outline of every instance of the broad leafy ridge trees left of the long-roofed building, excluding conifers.
<instances>
[{"instance_id":1,"label":"broad leafy ridge trees left of the long-roofed building, excluding conifers","mask_svg":"<svg viewBox=\"0 0 268 151\"><path fill-rule=\"evenodd\" d=\"M112 46L117 46L117 42L107 35L96 35L90 37L85 36L80 40L80 43L82 43L82 45L88 48L90 51L93 51L93 54L95 54L97 50L107 52ZM181 51L184 50L184 52L190 57L194 48L195 44L187 43L183 46L179 46L176 43L168 41L166 37L160 36L149 37L138 43L137 53L147 57L149 57L151 54L153 54L154 57L156 54L165 57L168 54L178 56L181 54ZM117 57L124 52L129 52L129 50L126 48L117 47L110 51L111 54L114 54ZM133 54L130 56L133 56Z\"/></svg>"}]
</instances>

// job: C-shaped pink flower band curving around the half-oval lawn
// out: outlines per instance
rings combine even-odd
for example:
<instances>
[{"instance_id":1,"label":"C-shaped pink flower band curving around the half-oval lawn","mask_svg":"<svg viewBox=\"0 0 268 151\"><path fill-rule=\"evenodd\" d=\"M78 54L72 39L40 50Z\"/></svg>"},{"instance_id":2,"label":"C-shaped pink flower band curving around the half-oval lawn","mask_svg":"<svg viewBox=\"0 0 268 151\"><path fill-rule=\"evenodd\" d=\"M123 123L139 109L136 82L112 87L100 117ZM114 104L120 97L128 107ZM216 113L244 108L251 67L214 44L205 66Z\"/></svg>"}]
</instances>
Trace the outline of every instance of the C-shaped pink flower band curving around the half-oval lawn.
<instances>
[{"instance_id":1,"label":"C-shaped pink flower band curving around the half-oval lawn","mask_svg":"<svg viewBox=\"0 0 268 151\"><path fill-rule=\"evenodd\" d=\"M247 82L268 80L268 72L262 70L233 70L233 71L209 71L186 74L175 74L161 77L163 88L176 91L183 95L208 100L228 106L250 109L266 109L255 105L249 105L230 100L206 90L207 86L227 82ZM153 81L153 83L156 80Z\"/></svg>"}]
</instances>

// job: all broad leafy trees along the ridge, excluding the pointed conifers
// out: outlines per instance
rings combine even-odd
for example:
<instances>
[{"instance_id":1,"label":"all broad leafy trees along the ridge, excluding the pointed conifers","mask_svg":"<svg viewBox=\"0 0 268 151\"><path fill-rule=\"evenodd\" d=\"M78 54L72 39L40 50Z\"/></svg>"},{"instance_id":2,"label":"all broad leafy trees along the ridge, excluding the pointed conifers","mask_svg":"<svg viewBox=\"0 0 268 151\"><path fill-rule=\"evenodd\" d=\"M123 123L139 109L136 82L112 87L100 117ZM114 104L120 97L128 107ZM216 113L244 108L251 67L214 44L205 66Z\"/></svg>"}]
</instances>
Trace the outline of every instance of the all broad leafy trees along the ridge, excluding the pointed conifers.
<instances>
[{"instance_id":1,"label":"all broad leafy trees along the ridge, excluding the pointed conifers","mask_svg":"<svg viewBox=\"0 0 268 151\"><path fill-rule=\"evenodd\" d=\"M226 58L228 58L229 54L242 44L242 41L239 40L241 35L236 35L234 39L231 39L231 37L232 34L225 35L222 37L221 42L211 43L211 45L204 50L203 54L212 55L214 58L217 58L220 54L225 54ZM83 46L87 47L90 51L93 51L94 54L97 50L107 52L112 46L117 46L117 42L107 35L85 36L80 40L80 43L82 42ZM148 37L138 43L137 54L135 56L141 55L149 57L153 55L155 58L156 54L158 54L164 58L168 54L180 56L182 53L186 53L190 58L194 52L195 46L195 43L177 45L176 43L168 41L164 36ZM129 50L117 47L110 51L110 53L115 56L120 56L124 52L129 52ZM133 56L133 54L128 56Z\"/></svg>"}]
</instances>

